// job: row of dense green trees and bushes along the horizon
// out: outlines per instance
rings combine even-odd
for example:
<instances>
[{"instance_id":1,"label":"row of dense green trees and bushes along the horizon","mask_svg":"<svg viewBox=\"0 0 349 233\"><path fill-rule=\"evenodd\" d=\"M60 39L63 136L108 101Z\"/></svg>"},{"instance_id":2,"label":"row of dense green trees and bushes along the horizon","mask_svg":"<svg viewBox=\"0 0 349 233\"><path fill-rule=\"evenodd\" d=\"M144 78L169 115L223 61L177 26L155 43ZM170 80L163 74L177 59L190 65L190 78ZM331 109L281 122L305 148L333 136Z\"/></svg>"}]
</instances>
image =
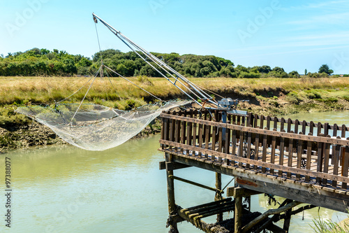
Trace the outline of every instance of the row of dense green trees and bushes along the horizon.
<instances>
[{"instance_id":1,"label":"row of dense green trees and bushes along the horizon","mask_svg":"<svg viewBox=\"0 0 349 233\"><path fill-rule=\"evenodd\" d=\"M253 67L237 65L235 67L235 64L230 60L213 55L179 55L175 52L170 54L151 53L188 78L299 78L297 71L287 73L279 66L273 69L266 65ZM90 59L82 55L70 55L64 50L54 49L50 51L45 48L8 53L6 57L1 55L0 76L90 76L98 71L102 61L122 76L161 77L160 73L144 62L144 59L135 52L108 49L96 52ZM151 61L148 62L152 64ZM315 78L327 75L326 73L315 74L312 73ZM110 75L116 76L114 73L110 73Z\"/></svg>"}]
</instances>

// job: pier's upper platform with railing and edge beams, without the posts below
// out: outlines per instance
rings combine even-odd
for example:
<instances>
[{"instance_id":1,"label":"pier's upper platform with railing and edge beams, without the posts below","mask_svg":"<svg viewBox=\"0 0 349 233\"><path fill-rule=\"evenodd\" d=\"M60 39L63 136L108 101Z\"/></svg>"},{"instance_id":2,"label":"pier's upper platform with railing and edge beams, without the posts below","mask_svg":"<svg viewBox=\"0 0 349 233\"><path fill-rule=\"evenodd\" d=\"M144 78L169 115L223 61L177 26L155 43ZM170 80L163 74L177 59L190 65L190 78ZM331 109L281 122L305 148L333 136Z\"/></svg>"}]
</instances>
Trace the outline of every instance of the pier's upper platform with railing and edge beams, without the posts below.
<instances>
[{"instance_id":1,"label":"pier's upper platform with railing and edge beams, without the posts below","mask_svg":"<svg viewBox=\"0 0 349 233\"><path fill-rule=\"evenodd\" d=\"M243 188L347 212L345 125L251 114L228 115L223 123L219 111L161 117L160 150L172 155L171 162L237 176Z\"/></svg>"}]
</instances>

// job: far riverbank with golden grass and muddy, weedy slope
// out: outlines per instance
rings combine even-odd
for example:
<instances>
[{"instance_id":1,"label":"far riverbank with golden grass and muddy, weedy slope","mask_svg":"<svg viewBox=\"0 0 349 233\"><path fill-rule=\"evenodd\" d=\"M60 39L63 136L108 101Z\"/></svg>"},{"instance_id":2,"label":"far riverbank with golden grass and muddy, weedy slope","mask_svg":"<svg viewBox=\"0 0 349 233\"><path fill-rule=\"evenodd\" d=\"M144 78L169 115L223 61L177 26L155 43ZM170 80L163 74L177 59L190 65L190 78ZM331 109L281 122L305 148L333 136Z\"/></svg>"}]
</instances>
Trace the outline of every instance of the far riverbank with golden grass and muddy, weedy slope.
<instances>
[{"instance_id":1,"label":"far riverbank with golden grass and muddy, weedy slope","mask_svg":"<svg viewBox=\"0 0 349 233\"><path fill-rule=\"evenodd\" d=\"M77 83L68 77L0 77L0 153L17 148L65 143L50 128L16 114L13 105L52 104L74 92ZM177 88L161 78L131 78L161 99L185 98ZM246 99L239 108L263 115L289 115L299 112L349 110L349 78L191 78L201 87L223 97ZM76 82L76 80L75 80ZM113 87L97 80L87 101L119 109L138 107L151 97L120 78L112 78ZM82 85L80 83L80 85ZM116 94L117 93L117 94ZM71 101L77 101L82 93ZM218 99L220 99L218 97ZM156 120L138 136L160 132Z\"/></svg>"}]
</instances>

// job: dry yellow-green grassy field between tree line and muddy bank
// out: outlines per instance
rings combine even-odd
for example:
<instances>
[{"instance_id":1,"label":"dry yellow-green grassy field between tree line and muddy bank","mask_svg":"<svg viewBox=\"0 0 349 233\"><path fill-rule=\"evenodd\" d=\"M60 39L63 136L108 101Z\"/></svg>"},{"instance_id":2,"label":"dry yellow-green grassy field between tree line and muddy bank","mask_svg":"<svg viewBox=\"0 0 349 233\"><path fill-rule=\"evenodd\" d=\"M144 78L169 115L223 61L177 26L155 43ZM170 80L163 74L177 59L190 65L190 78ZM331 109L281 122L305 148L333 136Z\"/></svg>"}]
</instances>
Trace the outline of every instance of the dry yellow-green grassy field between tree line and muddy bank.
<instances>
[{"instance_id":1,"label":"dry yellow-green grassy field between tree line and muddy bank","mask_svg":"<svg viewBox=\"0 0 349 233\"><path fill-rule=\"evenodd\" d=\"M0 77L0 106L53 104L67 99L79 102L89 87L87 77ZM132 82L163 100L185 98L165 78L133 77ZM349 78L189 78L193 83L223 97L255 99L276 108L289 103L297 111L309 111L322 103L345 109L349 101ZM218 97L217 99L220 99ZM89 103L130 109L154 101L149 94L122 78L97 78L86 97ZM302 104L300 104L302 103ZM260 104L264 107L265 105ZM321 109L320 109L321 110ZM323 109L328 110L328 109ZM3 115L3 114L2 114Z\"/></svg>"}]
</instances>

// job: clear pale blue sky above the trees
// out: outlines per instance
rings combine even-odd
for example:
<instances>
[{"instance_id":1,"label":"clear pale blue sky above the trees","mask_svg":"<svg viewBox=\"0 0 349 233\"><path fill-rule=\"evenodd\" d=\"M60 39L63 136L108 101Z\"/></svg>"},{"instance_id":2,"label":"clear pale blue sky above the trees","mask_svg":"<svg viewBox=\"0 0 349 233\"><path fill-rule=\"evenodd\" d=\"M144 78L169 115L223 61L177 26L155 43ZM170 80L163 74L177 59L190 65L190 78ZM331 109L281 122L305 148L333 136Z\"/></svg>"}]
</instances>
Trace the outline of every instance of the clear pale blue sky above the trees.
<instances>
[{"instance_id":1,"label":"clear pale blue sky above the trees","mask_svg":"<svg viewBox=\"0 0 349 233\"><path fill-rule=\"evenodd\" d=\"M243 66L349 73L349 1L16 0L0 2L0 54L47 48L91 57L96 13L154 52L216 55ZM98 23L101 48L127 52Z\"/></svg>"}]
</instances>

